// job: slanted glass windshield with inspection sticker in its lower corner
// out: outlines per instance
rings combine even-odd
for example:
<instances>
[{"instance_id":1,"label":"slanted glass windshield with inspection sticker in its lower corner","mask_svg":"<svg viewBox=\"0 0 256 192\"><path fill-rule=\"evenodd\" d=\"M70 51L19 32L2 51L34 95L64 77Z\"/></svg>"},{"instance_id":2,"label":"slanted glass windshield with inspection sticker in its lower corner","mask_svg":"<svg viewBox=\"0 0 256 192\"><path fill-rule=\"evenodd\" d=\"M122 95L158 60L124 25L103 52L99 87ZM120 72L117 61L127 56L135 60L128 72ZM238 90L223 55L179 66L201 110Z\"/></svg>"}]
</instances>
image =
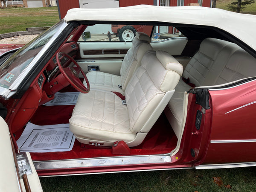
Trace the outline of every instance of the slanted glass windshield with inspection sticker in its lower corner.
<instances>
[{"instance_id":1,"label":"slanted glass windshield with inspection sticker in its lower corner","mask_svg":"<svg viewBox=\"0 0 256 192\"><path fill-rule=\"evenodd\" d=\"M3 65L0 66L0 87L9 88L29 63L35 58L45 44L57 32L64 21L52 26L42 35L26 44L15 52Z\"/></svg>"}]
</instances>

